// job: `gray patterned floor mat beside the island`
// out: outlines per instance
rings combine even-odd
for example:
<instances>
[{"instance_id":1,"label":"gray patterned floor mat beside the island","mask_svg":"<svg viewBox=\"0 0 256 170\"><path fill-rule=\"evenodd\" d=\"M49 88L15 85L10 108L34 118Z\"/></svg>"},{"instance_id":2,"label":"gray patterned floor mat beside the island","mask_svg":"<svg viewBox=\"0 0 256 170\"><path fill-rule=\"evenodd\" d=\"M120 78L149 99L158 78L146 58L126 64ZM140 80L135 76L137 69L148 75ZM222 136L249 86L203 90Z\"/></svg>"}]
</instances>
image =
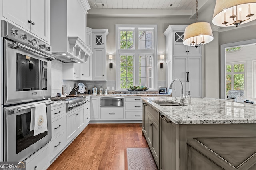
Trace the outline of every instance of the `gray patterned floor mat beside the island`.
<instances>
[{"instance_id":1,"label":"gray patterned floor mat beside the island","mask_svg":"<svg viewBox=\"0 0 256 170\"><path fill-rule=\"evenodd\" d=\"M128 170L158 170L149 148L127 148Z\"/></svg>"}]
</instances>

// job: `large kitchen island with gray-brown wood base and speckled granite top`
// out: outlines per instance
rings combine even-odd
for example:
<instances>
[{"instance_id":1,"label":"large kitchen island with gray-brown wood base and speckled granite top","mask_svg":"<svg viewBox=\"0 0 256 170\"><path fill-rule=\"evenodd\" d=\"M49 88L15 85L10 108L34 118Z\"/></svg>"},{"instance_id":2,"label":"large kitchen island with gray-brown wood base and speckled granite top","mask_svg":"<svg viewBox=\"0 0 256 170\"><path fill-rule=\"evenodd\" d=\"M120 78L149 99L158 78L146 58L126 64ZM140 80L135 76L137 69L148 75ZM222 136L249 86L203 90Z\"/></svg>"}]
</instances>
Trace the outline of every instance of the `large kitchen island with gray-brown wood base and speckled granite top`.
<instances>
[{"instance_id":1,"label":"large kitchen island with gray-brown wood base and speckled granite top","mask_svg":"<svg viewBox=\"0 0 256 170\"><path fill-rule=\"evenodd\" d=\"M155 102L174 100L142 99L143 133L160 170L256 170L255 105L193 98L161 106ZM158 128L151 134L152 122Z\"/></svg>"}]
</instances>

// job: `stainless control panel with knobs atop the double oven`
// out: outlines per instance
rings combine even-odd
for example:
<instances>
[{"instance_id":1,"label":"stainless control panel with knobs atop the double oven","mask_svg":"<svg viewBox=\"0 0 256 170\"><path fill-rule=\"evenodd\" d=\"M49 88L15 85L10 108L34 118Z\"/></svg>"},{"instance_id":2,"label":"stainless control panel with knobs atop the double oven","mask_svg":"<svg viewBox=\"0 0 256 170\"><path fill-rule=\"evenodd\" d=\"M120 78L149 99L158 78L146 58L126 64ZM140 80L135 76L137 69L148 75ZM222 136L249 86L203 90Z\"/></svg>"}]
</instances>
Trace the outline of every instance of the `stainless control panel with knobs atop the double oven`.
<instances>
[{"instance_id":1,"label":"stainless control panel with knobs atop the double oven","mask_svg":"<svg viewBox=\"0 0 256 170\"><path fill-rule=\"evenodd\" d=\"M6 37L12 41L22 43L23 45L52 55L52 48L50 45L39 40L28 31L22 30L4 20L2 20L2 37Z\"/></svg>"}]
</instances>

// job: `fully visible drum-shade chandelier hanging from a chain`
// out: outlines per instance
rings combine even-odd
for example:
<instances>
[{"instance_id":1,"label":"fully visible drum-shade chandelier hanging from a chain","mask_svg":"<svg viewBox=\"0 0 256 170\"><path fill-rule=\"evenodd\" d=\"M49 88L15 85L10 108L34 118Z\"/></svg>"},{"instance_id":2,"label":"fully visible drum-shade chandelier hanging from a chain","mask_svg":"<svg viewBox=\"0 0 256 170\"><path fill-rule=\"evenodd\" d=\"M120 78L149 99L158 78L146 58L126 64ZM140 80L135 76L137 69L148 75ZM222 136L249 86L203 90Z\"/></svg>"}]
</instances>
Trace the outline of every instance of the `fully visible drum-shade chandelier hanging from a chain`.
<instances>
[{"instance_id":1,"label":"fully visible drum-shade chandelier hanging from a chain","mask_svg":"<svg viewBox=\"0 0 256 170\"><path fill-rule=\"evenodd\" d=\"M192 23L185 28L183 44L192 47L199 47L213 40L212 28L208 22L197 22L198 2L196 0L196 23Z\"/></svg>"}]
</instances>

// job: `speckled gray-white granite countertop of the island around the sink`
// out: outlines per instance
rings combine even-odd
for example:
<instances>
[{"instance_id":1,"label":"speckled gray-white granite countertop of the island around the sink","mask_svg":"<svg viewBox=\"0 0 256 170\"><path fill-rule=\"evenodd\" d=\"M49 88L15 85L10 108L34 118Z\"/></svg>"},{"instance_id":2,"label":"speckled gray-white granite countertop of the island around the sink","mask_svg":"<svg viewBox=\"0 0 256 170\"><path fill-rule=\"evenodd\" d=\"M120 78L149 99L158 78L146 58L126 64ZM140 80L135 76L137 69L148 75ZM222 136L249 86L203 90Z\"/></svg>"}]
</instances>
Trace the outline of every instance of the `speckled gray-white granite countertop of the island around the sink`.
<instances>
[{"instance_id":1,"label":"speckled gray-white granite countertop of the island around the sink","mask_svg":"<svg viewBox=\"0 0 256 170\"><path fill-rule=\"evenodd\" d=\"M251 104L192 98L192 104L186 106L160 106L152 101L174 100L168 96L148 96L142 100L175 124L256 123L256 106Z\"/></svg>"}]
</instances>

